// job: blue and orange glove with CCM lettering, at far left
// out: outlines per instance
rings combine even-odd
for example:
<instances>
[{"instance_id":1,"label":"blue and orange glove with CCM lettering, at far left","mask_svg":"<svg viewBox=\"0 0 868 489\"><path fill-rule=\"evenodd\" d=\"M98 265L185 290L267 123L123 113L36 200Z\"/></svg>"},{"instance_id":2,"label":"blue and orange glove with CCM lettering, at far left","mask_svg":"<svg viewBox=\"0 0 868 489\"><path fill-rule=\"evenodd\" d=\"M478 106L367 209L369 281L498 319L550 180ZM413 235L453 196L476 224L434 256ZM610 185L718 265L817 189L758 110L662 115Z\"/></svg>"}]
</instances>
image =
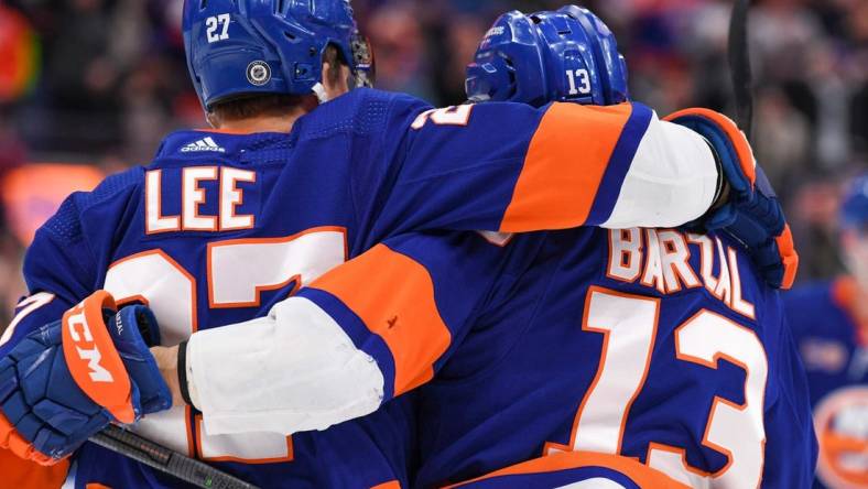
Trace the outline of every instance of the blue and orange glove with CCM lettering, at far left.
<instances>
[{"instance_id":1,"label":"blue and orange glove with CCM lettering, at far left","mask_svg":"<svg viewBox=\"0 0 868 489\"><path fill-rule=\"evenodd\" d=\"M172 405L148 349L160 339L153 314L115 308L99 291L0 359L0 448L53 465L109 422Z\"/></svg>"}]
</instances>

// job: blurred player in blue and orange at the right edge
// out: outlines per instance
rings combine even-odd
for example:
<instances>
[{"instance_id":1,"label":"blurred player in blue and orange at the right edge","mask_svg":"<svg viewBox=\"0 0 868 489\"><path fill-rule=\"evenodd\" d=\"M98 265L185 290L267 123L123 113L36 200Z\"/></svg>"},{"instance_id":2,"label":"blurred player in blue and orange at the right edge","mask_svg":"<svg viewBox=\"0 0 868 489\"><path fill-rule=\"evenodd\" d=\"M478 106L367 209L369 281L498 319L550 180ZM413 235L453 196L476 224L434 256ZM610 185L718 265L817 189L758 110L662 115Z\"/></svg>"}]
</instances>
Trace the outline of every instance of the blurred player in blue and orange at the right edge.
<instances>
[{"instance_id":1,"label":"blurred player in blue and orange at the right edge","mask_svg":"<svg viewBox=\"0 0 868 489\"><path fill-rule=\"evenodd\" d=\"M840 251L849 274L784 295L807 370L820 438L815 487L868 487L868 175L840 209Z\"/></svg>"}]
</instances>

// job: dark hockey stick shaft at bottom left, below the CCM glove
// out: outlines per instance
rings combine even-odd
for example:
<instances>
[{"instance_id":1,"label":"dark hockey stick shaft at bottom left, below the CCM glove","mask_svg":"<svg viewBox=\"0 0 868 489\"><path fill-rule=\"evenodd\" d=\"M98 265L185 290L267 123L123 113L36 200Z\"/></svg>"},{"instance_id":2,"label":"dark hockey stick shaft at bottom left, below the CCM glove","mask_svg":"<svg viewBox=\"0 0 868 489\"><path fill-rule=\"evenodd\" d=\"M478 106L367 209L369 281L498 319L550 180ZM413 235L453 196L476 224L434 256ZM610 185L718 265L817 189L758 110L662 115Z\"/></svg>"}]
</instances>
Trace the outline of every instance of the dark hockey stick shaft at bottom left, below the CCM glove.
<instances>
[{"instance_id":1,"label":"dark hockey stick shaft at bottom left, below the CCM glove","mask_svg":"<svg viewBox=\"0 0 868 489\"><path fill-rule=\"evenodd\" d=\"M91 436L90 442L200 488L258 489L257 486L113 424Z\"/></svg>"}]
</instances>

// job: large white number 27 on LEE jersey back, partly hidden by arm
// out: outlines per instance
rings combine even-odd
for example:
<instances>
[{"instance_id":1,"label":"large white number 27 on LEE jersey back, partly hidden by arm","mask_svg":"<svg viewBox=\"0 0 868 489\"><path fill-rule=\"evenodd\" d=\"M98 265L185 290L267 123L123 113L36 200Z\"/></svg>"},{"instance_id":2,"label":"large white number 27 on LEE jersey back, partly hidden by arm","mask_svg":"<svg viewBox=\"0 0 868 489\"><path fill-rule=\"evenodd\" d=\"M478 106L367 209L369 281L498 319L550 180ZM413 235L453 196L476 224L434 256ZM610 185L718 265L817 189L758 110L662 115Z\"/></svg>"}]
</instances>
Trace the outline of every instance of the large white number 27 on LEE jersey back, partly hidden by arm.
<instances>
[{"instance_id":1,"label":"large white number 27 on LEE jersey back, partly hidden by arm","mask_svg":"<svg viewBox=\"0 0 868 489\"><path fill-rule=\"evenodd\" d=\"M261 306L264 291L295 290L346 261L346 231L337 227L313 228L285 238L215 241L205 259L206 284L160 249L137 253L115 262L104 289L118 303L140 301L160 318L164 345L177 345L198 329L200 301L208 309ZM206 285L206 286L200 286ZM207 297L198 291L207 290ZM252 319L253 317L250 317ZM156 443L189 456L213 461L267 464L292 459L292 438L274 433L209 436L202 416L174 408L149 415L134 431Z\"/></svg>"}]
</instances>

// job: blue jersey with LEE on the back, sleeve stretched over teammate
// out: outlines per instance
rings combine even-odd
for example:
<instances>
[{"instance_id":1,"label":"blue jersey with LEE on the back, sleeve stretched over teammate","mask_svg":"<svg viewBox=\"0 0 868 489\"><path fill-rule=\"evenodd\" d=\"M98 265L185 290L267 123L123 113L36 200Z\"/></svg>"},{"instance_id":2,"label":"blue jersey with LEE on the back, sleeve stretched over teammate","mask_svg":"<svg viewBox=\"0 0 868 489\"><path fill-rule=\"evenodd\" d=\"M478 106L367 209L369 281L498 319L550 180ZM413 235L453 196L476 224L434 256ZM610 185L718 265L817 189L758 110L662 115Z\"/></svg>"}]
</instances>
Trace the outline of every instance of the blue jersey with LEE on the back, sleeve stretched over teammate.
<instances>
[{"instance_id":1,"label":"blue jersey with LEE on the back, sleeve stretched over teammate","mask_svg":"<svg viewBox=\"0 0 868 489\"><path fill-rule=\"evenodd\" d=\"M435 110L361 89L300 119L289 135L171 134L151 165L74 194L40 229L24 264L31 295L0 339L0 355L98 289L120 303L150 305L164 344L174 345L265 315L327 270L404 231L688 220L710 204L716 171L701 138L662 124L639 104ZM668 146L673 138L683 144ZM673 173L629 192L660 160L671 163L661 172ZM654 185L666 192L649 192ZM658 199L671 208L648 205ZM474 246L490 246L471 236ZM393 363L400 381L390 395L424 380L401 377L400 359ZM388 405L291 437L211 435L192 409L148 416L135 430L264 487L372 487L406 480L413 430L404 411ZM77 488L176 487L91 445L76 460Z\"/></svg>"}]
</instances>

